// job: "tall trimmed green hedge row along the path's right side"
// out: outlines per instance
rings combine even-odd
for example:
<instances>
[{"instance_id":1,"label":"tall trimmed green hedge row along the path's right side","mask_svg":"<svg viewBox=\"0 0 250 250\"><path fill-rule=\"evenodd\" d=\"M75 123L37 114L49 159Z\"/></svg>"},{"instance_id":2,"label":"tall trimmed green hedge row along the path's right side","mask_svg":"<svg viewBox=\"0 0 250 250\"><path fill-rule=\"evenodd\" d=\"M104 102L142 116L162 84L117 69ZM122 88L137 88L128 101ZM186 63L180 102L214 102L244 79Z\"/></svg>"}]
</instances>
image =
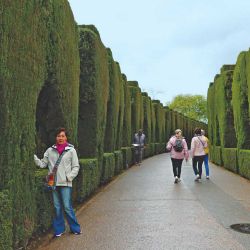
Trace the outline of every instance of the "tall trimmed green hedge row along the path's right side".
<instances>
[{"instance_id":1,"label":"tall trimmed green hedge row along the path's right side","mask_svg":"<svg viewBox=\"0 0 250 250\"><path fill-rule=\"evenodd\" d=\"M208 89L208 134L211 160L250 178L250 51L235 65L223 65Z\"/></svg>"}]
</instances>

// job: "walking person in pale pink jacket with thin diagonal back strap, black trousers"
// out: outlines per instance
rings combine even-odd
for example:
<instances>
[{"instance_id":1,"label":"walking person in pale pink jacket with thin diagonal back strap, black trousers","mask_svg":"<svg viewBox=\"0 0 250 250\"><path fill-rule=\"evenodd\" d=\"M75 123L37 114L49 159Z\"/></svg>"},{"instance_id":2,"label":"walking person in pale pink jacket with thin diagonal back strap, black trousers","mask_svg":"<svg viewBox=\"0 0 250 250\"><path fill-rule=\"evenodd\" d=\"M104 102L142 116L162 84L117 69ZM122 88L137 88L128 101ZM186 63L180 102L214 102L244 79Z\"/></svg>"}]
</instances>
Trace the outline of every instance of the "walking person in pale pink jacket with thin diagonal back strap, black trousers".
<instances>
[{"instance_id":1,"label":"walking person in pale pink jacket with thin diagonal back strap, black trousers","mask_svg":"<svg viewBox=\"0 0 250 250\"><path fill-rule=\"evenodd\" d=\"M205 136L201 135L201 128L195 128L194 134L195 135L191 141L191 156L193 160L193 170L196 175L195 181L200 181L202 175L202 164L205 158L204 148L207 147L207 142Z\"/></svg>"}]
</instances>

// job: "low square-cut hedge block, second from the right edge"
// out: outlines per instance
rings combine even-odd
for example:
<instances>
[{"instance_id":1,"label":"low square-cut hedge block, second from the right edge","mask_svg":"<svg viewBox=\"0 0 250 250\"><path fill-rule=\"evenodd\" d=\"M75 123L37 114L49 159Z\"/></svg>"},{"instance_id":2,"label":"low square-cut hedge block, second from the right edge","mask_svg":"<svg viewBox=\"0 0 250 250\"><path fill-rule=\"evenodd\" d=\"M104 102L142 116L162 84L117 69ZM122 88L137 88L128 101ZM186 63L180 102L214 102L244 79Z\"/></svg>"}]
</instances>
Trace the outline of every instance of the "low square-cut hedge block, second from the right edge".
<instances>
[{"instance_id":1,"label":"low square-cut hedge block, second from the right edge","mask_svg":"<svg viewBox=\"0 0 250 250\"><path fill-rule=\"evenodd\" d=\"M223 158L224 167L238 174L239 168L238 168L237 155L238 155L237 148L222 149L222 158Z\"/></svg>"}]
</instances>

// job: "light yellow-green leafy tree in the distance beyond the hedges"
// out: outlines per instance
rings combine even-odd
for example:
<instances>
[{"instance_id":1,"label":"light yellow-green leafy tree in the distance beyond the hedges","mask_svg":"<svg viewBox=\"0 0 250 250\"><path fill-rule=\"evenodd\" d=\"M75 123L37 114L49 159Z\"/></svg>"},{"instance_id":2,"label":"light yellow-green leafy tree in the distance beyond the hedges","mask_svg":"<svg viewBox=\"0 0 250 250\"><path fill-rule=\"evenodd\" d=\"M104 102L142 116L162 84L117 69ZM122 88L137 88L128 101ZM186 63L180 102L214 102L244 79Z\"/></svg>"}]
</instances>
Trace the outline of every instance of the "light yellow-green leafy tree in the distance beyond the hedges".
<instances>
[{"instance_id":1,"label":"light yellow-green leafy tree in the distance beyond the hedges","mask_svg":"<svg viewBox=\"0 0 250 250\"><path fill-rule=\"evenodd\" d=\"M207 123L207 100L202 95L177 95L167 106L187 117Z\"/></svg>"}]
</instances>

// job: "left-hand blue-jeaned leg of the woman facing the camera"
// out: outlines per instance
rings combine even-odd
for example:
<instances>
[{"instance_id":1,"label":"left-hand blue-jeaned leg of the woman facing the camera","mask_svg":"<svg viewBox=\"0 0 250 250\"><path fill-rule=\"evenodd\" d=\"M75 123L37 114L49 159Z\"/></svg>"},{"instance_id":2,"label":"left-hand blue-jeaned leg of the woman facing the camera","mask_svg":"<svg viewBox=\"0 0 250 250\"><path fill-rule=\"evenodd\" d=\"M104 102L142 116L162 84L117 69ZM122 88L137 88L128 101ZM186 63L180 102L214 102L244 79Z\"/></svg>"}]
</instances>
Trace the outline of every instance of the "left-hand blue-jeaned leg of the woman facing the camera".
<instances>
[{"instance_id":1,"label":"left-hand blue-jeaned leg of the woman facing the camera","mask_svg":"<svg viewBox=\"0 0 250 250\"><path fill-rule=\"evenodd\" d=\"M52 191L53 203L55 207L55 218L53 219L53 228L55 235L60 235L65 231L65 223L63 218L63 205L60 198L60 187Z\"/></svg>"}]
</instances>

